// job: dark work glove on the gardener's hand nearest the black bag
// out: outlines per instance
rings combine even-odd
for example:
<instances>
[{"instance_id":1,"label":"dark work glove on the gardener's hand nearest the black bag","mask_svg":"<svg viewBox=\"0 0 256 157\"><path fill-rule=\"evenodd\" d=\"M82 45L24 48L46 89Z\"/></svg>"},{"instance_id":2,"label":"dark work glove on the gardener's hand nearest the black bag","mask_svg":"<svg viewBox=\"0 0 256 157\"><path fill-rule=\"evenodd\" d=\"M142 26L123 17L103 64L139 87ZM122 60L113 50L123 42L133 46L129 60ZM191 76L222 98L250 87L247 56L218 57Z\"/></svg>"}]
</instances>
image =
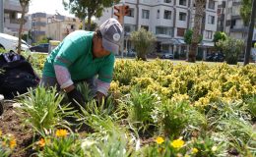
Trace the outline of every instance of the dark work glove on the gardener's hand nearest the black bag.
<instances>
[{"instance_id":1,"label":"dark work glove on the gardener's hand nearest the black bag","mask_svg":"<svg viewBox=\"0 0 256 157\"><path fill-rule=\"evenodd\" d=\"M76 88L71 90L70 92L68 92L67 95L69 98L69 102L71 102L72 107L75 110L78 110L81 112L81 108L78 105L78 103L81 106L85 105L85 99L84 99L83 95Z\"/></svg>"}]
</instances>

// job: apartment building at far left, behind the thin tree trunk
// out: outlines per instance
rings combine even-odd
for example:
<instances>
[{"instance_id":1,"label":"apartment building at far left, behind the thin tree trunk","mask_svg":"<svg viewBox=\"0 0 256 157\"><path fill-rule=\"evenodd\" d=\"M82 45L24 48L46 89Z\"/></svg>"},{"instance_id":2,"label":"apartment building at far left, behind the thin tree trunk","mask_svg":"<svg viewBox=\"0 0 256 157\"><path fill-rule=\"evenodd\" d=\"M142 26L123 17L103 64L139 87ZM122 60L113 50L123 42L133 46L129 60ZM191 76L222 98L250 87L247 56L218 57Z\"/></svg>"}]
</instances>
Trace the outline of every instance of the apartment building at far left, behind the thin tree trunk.
<instances>
[{"instance_id":1,"label":"apartment building at far left, behind the thin tree trunk","mask_svg":"<svg viewBox=\"0 0 256 157\"><path fill-rule=\"evenodd\" d=\"M25 10L29 12L29 6ZM20 29L20 18L22 15L22 7L19 0L5 0L4 1L4 32L10 35L18 36ZM23 33L29 31L29 19L25 18L23 26Z\"/></svg>"}]
</instances>

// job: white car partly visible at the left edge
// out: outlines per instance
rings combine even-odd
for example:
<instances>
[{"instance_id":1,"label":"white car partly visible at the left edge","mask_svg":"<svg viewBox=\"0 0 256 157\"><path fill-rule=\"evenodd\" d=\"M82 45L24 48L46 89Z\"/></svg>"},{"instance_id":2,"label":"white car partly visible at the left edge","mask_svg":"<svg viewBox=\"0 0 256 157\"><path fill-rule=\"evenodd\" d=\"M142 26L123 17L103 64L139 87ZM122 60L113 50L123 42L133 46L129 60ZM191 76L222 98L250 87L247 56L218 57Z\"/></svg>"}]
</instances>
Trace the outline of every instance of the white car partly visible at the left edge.
<instances>
[{"instance_id":1,"label":"white car partly visible at the left edge","mask_svg":"<svg viewBox=\"0 0 256 157\"><path fill-rule=\"evenodd\" d=\"M0 33L0 48L8 52L17 52L19 38L6 33ZM22 51L30 51L29 44L22 39Z\"/></svg>"}]
</instances>

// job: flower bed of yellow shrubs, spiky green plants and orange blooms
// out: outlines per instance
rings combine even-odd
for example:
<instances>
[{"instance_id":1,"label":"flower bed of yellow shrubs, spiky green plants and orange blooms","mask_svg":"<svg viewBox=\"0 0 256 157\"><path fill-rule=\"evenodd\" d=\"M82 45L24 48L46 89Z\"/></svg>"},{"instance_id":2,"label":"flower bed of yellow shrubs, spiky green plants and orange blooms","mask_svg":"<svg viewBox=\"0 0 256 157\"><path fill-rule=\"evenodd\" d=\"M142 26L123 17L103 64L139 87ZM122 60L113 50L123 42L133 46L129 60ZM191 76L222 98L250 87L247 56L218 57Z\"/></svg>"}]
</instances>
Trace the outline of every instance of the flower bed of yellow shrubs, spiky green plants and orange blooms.
<instances>
[{"instance_id":1,"label":"flower bed of yellow shrubs, spiky green plants and orange blooms","mask_svg":"<svg viewBox=\"0 0 256 157\"><path fill-rule=\"evenodd\" d=\"M37 88L18 100L18 113L27 113L20 118L37 136L29 146L35 156L255 156L255 72L255 65L117 60L103 104L80 84L89 102L74 113L59 105L65 95Z\"/></svg>"}]
</instances>

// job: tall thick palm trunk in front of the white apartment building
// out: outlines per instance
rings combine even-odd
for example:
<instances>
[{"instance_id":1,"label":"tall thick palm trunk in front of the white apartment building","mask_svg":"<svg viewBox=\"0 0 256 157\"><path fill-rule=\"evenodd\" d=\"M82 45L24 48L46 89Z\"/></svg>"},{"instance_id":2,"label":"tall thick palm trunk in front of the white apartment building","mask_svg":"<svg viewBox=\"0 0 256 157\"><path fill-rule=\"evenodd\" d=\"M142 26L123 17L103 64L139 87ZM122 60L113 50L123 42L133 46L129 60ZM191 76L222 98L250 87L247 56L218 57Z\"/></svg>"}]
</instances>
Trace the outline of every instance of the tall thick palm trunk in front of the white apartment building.
<instances>
[{"instance_id":1,"label":"tall thick palm trunk in front of the white apartment building","mask_svg":"<svg viewBox=\"0 0 256 157\"><path fill-rule=\"evenodd\" d=\"M196 51L200 42L202 19L205 14L206 0L195 0L195 18L193 26L192 41L188 53L188 62L196 62Z\"/></svg>"}]
</instances>

